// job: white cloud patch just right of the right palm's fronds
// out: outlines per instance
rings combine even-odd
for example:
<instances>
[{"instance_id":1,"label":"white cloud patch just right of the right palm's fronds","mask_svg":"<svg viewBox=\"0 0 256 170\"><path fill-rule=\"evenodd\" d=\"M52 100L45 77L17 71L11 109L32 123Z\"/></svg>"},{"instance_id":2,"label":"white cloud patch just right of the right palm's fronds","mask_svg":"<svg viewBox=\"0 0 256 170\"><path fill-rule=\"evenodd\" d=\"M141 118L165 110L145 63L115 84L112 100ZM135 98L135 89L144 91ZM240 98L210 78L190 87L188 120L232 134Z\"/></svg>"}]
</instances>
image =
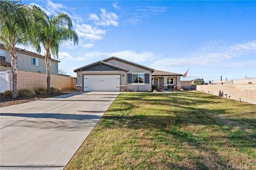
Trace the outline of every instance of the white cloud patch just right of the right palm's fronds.
<instances>
[{"instance_id":1,"label":"white cloud patch just right of the right palm's fronds","mask_svg":"<svg viewBox=\"0 0 256 170\"><path fill-rule=\"evenodd\" d=\"M93 27L89 24L76 25L76 33L79 37L83 37L85 40L100 40L106 31Z\"/></svg>"}]
</instances>

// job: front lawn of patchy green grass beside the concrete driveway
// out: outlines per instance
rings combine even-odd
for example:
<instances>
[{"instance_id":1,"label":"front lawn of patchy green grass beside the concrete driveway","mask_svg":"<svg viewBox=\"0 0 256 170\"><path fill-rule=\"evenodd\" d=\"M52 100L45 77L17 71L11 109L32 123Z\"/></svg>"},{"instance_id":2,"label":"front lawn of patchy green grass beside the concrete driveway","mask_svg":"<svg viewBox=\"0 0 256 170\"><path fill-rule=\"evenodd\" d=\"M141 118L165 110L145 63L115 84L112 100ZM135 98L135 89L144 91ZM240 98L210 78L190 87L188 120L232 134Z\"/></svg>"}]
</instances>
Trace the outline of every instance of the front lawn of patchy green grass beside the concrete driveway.
<instances>
[{"instance_id":1,"label":"front lawn of patchy green grass beside the concrete driveway","mask_svg":"<svg viewBox=\"0 0 256 170\"><path fill-rule=\"evenodd\" d=\"M201 92L124 92L66 169L256 169L255 110Z\"/></svg>"}]
</instances>

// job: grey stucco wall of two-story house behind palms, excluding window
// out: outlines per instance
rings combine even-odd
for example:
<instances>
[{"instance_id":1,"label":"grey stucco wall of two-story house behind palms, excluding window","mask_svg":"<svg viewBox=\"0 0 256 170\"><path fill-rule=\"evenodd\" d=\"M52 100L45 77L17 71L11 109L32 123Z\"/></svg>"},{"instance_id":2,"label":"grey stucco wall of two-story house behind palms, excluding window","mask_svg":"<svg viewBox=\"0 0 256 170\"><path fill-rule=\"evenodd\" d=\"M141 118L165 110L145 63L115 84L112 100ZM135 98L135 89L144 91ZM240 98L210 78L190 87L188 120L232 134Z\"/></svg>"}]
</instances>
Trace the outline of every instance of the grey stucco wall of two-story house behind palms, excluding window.
<instances>
[{"instance_id":1,"label":"grey stucco wall of two-story house behind palms, excluding window","mask_svg":"<svg viewBox=\"0 0 256 170\"><path fill-rule=\"evenodd\" d=\"M4 49L1 49L1 50L4 50ZM45 66L44 58L25 54L22 52L17 52L17 53L18 53L18 56L17 56L18 70L37 72L37 73L38 72L46 73L46 66ZM32 62L31 62L32 57L38 58L38 60L39 60L38 66L32 65ZM7 53L7 51L6 51L6 62L11 63L11 55L9 53ZM51 74L58 75L58 62L57 61L53 61L53 60L51 61L50 72L51 72Z\"/></svg>"}]
</instances>

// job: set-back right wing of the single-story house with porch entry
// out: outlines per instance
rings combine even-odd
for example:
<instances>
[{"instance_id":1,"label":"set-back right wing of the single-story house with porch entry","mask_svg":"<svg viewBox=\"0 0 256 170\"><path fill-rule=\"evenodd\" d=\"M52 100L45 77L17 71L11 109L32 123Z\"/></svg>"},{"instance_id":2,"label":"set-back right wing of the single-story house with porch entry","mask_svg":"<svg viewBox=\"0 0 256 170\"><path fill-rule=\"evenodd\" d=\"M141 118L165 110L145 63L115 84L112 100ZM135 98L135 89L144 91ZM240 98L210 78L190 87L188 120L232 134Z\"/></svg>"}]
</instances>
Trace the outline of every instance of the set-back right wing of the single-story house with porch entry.
<instances>
[{"instance_id":1,"label":"set-back right wing of the single-story house with porch entry","mask_svg":"<svg viewBox=\"0 0 256 170\"><path fill-rule=\"evenodd\" d=\"M152 73L152 84L156 85L158 89L180 89L180 73L172 73L166 71L155 70Z\"/></svg>"}]
</instances>

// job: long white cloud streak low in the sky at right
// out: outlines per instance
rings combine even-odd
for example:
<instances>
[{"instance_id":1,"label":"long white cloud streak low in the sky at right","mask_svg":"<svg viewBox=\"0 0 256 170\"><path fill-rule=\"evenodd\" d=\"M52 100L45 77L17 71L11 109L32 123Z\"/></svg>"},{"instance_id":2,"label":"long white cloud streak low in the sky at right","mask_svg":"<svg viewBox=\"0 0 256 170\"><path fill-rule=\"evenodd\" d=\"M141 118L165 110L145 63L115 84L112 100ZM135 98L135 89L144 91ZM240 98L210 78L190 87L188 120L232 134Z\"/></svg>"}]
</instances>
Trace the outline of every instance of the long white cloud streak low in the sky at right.
<instances>
[{"instance_id":1,"label":"long white cloud streak low in the sky at right","mask_svg":"<svg viewBox=\"0 0 256 170\"><path fill-rule=\"evenodd\" d=\"M155 67L168 68L176 66L205 65L214 64L234 57L256 54L256 41L232 46L207 46L199 50L198 53L187 57L175 57L158 60L153 63Z\"/></svg>"}]
</instances>

